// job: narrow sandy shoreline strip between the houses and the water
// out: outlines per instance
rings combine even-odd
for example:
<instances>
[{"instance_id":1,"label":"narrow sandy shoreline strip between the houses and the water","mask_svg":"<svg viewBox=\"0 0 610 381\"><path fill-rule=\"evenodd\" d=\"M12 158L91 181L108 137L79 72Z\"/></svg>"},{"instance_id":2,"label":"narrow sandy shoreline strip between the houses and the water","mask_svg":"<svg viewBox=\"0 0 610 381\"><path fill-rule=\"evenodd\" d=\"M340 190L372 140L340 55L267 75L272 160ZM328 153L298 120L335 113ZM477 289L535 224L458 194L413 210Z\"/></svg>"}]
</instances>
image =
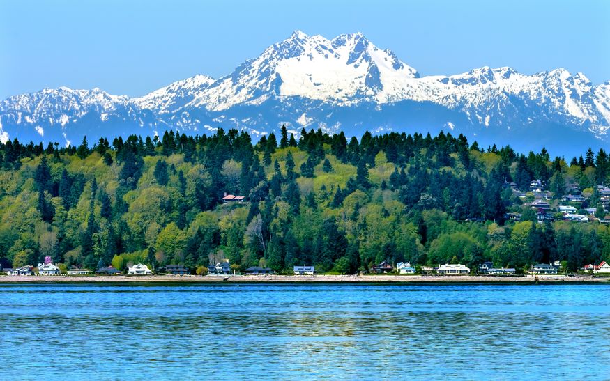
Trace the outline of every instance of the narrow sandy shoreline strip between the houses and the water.
<instances>
[{"instance_id":1,"label":"narrow sandy shoreline strip between the houses and the water","mask_svg":"<svg viewBox=\"0 0 610 381\"><path fill-rule=\"evenodd\" d=\"M228 279L227 279L228 278ZM225 280L226 279L226 280ZM539 275L538 283L609 283L609 278L586 275ZM0 283L535 283L535 277L483 275L102 275L0 277Z\"/></svg>"}]
</instances>

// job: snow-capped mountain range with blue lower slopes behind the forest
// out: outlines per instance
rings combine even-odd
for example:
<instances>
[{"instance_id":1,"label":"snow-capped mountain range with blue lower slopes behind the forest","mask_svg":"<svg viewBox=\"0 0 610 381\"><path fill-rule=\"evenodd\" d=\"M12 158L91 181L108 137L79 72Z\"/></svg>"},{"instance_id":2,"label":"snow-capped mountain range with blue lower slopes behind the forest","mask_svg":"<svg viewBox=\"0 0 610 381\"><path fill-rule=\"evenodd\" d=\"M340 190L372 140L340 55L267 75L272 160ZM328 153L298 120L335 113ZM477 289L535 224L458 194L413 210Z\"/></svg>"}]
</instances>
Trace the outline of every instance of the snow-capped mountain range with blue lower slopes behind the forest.
<instances>
[{"instance_id":1,"label":"snow-capped mountain range with blue lower slopes behind the forest","mask_svg":"<svg viewBox=\"0 0 610 381\"><path fill-rule=\"evenodd\" d=\"M448 58L450 59L450 58ZM99 88L45 88L0 102L0 140L78 144L99 137L245 129L257 139L285 124L348 136L463 133L481 145L575 155L610 141L610 81L593 86L559 68L522 75L478 68L420 77L361 33L327 40L295 31L231 75L196 75L140 98Z\"/></svg>"}]
</instances>

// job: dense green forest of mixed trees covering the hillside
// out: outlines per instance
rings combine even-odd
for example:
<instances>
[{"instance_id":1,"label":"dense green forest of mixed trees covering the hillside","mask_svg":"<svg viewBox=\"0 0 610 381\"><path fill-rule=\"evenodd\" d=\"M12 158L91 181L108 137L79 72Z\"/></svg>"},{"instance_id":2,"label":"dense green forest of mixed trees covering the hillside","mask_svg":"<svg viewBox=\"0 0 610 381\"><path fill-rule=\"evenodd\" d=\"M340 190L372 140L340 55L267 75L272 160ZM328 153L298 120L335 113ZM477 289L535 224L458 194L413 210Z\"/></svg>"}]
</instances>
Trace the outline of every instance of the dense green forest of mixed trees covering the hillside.
<instances>
[{"instance_id":1,"label":"dense green forest of mixed trees covering the hillside","mask_svg":"<svg viewBox=\"0 0 610 381\"><path fill-rule=\"evenodd\" d=\"M348 141L321 130L296 139L282 127L256 144L238 130L92 146L85 138L65 148L14 139L0 143L0 165L3 267L50 256L90 269L142 262L195 271L227 258L235 268L277 272L315 265L346 274L384 260L472 269L493 261L522 272L533 263L567 261L576 271L610 260L608 226L540 223L526 205L533 196L514 190L540 179L553 208L574 189L604 215L595 187L610 175L604 150L568 163L544 149L484 149L443 132ZM225 194L245 199L223 203ZM508 212L520 220L506 221Z\"/></svg>"}]
</instances>

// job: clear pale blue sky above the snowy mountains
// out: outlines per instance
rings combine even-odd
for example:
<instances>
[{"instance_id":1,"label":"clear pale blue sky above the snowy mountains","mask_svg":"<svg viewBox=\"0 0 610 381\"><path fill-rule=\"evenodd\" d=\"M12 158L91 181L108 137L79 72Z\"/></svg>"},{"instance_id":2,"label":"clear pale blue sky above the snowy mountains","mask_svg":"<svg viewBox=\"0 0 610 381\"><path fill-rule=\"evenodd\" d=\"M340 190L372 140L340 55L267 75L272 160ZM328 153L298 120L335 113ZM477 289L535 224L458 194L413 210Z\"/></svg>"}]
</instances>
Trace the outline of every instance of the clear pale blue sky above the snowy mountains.
<instances>
[{"instance_id":1,"label":"clear pale blue sky above the snowy mountains","mask_svg":"<svg viewBox=\"0 0 610 381\"><path fill-rule=\"evenodd\" d=\"M0 99L221 77L295 29L360 31L422 75L488 65L610 80L610 1L0 0Z\"/></svg>"}]
</instances>

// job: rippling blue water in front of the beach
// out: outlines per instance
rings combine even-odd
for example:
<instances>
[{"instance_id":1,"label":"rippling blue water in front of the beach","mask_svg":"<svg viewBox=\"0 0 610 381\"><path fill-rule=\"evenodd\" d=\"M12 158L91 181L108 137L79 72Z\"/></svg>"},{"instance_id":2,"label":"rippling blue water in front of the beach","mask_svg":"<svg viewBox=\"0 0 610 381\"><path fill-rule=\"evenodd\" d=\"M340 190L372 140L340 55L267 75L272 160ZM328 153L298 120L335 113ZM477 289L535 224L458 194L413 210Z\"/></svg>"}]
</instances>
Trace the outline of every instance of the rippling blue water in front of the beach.
<instances>
[{"instance_id":1,"label":"rippling blue water in front of the beach","mask_svg":"<svg viewBox=\"0 0 610 381\"><path fill-rule=\"evenodd\" d=\"M0 284L0 379L610 379L610 285Z\"/></svg>"}]
</instances>

